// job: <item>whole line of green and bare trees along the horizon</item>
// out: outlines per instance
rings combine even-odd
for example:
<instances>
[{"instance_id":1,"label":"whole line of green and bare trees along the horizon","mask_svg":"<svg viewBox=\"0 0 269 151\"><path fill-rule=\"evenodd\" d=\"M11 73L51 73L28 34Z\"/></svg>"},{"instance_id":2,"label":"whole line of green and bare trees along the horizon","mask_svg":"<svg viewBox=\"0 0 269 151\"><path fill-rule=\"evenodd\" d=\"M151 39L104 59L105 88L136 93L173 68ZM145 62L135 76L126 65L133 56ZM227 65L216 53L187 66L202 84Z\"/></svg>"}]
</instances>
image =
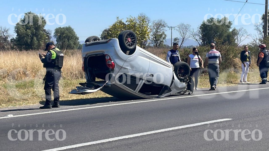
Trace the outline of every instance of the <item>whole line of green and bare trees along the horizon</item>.
<instances>
[{"instance_id":1,"label":"whole line of green and bare trees along the horizon","mask_svg":"<svg viewBox=\"0 0 269 151\"><path fill-rule=\"evenodd\" d=\"M25 15L33 16L33 23L23 24L26 20L25 17L22 18L14 27L16 37L11 38L10 29L0 26L0 49L38 50L43 49L45 43L52 39L55 39L54 42L63 51L82 48L79 43L79 37L71 26L58 27L52 33L51 30L45 29L46 20L43 16L32 12L27 12ZM264 19L264 15L262 19ZM42 23L40 24L38 21ZM144 13L140 13L137 17L129 16L125 21L116 17L115 23L104 29L100 38L102 40L118 38L119 33L123 30L134 31L137 35L137 45L142 48L146 46L155 48L169 47L165 45L167 37L165 34L165 31L167 31L165 20L151 20ZM212 17L203 21L196 30L192 29L189 24L180 23L175 28L179 37L174 38L173 41L179 43L179 47L182 47L187 39L195 40L199 46L207 46L210 43L239 46L248 37L254 37L251 44L267 40L263 38L263 24L256 25L255 30L257 35L250 35L243 27L232 28L232 22L228 18L216 19ZM269 39L267 41L269 42Z\"/></svg>"}]
</instances>

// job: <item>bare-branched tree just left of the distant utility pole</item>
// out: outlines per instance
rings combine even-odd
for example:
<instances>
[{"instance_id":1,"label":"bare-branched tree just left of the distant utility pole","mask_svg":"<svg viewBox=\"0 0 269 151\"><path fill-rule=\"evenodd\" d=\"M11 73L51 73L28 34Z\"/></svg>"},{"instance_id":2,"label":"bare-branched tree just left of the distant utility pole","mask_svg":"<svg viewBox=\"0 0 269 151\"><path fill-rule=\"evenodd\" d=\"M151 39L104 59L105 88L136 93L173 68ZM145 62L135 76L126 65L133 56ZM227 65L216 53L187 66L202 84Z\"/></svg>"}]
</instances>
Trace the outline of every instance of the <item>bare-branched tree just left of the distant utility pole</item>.
<instances>
[{"instance_id":1,"label":"bare-branched tree just left of the distant utility pole","mask_svg":"<svg viewBox=\"0 0 269 151\"><path fill-rule=\"evenodd\" d=\"M166 27L167 23L162 19L152 21L150 41L156 48L159 48L161 45L164 45L164 41L166 39Z\"/></svg>"}]
</instances>

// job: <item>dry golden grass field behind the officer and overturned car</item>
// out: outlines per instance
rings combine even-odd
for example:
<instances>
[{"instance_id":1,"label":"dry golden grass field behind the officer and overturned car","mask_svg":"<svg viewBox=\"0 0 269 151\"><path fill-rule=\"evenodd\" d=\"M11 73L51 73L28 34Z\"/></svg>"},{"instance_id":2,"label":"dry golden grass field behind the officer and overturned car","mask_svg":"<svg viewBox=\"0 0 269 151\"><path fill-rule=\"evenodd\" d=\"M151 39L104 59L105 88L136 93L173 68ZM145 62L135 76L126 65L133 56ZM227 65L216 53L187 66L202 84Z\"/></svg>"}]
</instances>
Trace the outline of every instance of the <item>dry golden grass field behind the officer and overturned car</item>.
<instances>
[{"instance_id":1,"label":"dry golden grass field behind the officer and overturned car","mask_svg":"<svg viewBox=\"0 0 269 151\"><path fill-rule=\"evenodd\" d=\"M168 50L148 49L148 51L165 59ZM40 51L40 53L44 53L44 51ZM42 84L45 69L38 58L38 51L0 51L0 58L0 108L33 105L45 100L44 85ZM88 95L68 94L70 90L79 85L79 82L85 82L81 60L80 51L66 52L62 79L60 80L60 99L109 97L101 91ZM239 70L222 71L219 86L237 84L240 74ZM248 81L260 81L257 67L250 70ZM200 76L199 87L209 87L207 74Z\"/></svg>"}]
</instances>

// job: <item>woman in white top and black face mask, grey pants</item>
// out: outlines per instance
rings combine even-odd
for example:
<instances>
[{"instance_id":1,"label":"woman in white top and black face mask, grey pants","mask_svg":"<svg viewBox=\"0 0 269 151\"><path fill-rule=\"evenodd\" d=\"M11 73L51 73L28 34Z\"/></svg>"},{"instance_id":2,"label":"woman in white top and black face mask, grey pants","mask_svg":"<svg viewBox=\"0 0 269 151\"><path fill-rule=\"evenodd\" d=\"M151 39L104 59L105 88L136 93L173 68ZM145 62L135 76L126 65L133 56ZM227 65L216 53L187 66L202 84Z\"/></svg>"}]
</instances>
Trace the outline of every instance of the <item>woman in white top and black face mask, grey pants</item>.
<instances>
[{"instance_id":1,"label":"woman in white top and black face mask, grey pants","mask_svg":"<svg viewBox=\"0 0 269 151\"><path fill-rule=\"evenodd\" d=\"M198 90L198 87L197 87L198 74L199 74L199 69L200 69L199 60L202 64L201 67L204 68L204 62L203 62L202 58L198 55L198 49L193 48L192 54L190 54L188 57L188 64L190 66L190 76L193 77L193 75L194 75L195 90Z\"/></svg>"}]
</instances>

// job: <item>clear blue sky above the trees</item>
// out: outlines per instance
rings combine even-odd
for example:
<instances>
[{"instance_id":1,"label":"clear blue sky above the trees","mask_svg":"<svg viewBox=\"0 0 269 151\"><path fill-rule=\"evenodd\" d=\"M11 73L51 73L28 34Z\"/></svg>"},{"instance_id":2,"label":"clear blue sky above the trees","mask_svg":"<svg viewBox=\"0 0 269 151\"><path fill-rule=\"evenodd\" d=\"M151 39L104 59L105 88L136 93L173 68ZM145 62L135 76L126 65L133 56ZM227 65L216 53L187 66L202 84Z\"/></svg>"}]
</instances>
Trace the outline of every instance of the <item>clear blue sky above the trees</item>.
<instances>
[{"instance_id":1,"label":"clear blue sky above the trees","mask_svg":"<svg viewBox=\"0 0 269 151\"><path fill-rule=\"evenodd\" d=\"M245 0L238 0L245 1ZM265 3L264 0L249 0L248 2ZM54 30L57 27L72 26L79 39L84 41L91 35L99 36L105 28L113 24L116 17L126 19L128 16L137 16L139 13L145 13L151 20L164 19L168 26L177 26L180 23L190 24L192 28L196 29L204 20L206 14L237 14L238 9L242 8L244 3L229 2L224 0L104 0L104 1L5 1L0 6L0 26L6 26L10 28L10 34L16 36L14 31L14 25L8 23L8 16L10 14L16 14L19 16L30 10L37 14L64 14L66 16L66 23L58 25L54 19L49 19L50 23L54 25L46 25L46 29ZM12 10L14 8L14 10ZM43 11L44 8L44 11ZM208 10L210 8L210 10ZM20 11L19 11L20 9ZM216 11L215 11L216 9ZM251 9L251 11L250 11ZM36 11L37 10L37 11ZM55 11L54 11L55 10ZM61 11L62 10L62 11ZM233 10L233 11L232 11ZM251 17L254 14L262 15L264 13L264 5L246 4L241 10L241 14L249 14ZM44 16L45 17L45 16ZM49 18L52 16L50 15ZM209 18L208 16L207 18ZM218 15L220 17L220 15ZM230 16L230 20L234 19L234 16ZM255 21L258 22L258 16L255 17ZM17 17L11 16L13 23L17 22ZM251 23L251 18L245 20L246 23ZM62 23L62 16L59 16L59 23ZM254 26L243 25L241 16L239 17L238 25L236 28L244 27L250 34L256 34ZM167 38L171 37L171 31L167 28ZM179 34L173 30L173 38L179 37ZM247 39L244 43L251 41Z\"/></svg>"}]
</instances>

